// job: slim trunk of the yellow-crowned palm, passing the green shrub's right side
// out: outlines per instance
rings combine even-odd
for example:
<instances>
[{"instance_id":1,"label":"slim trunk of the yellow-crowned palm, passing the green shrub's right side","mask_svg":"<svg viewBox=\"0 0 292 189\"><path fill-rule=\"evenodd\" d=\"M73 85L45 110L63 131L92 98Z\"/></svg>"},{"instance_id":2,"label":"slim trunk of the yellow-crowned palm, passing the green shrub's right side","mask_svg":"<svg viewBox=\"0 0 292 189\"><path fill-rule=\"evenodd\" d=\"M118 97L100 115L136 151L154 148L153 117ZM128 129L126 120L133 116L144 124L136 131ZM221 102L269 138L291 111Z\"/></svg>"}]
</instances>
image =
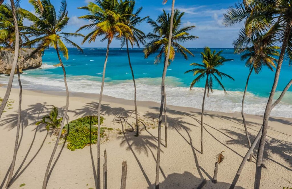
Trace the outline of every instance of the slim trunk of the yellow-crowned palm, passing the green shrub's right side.
<instances>
[{"instance_id":1,"label":"slim trunk of the yellow-crowned palm, passing the green shrub's right side","mask_svg":"<svg viewBox=\"0 0 292 189\"><path fill-rule=\"evenodd\" d=\"M105 69L107 67L107 58L109 56L109 44L110 40L107 42L107 53L105 55L105 63L103 65L103 72L102 72L102 82L101 88L99 93L99 103L98 103L98 131L97 131L97 188L100 189L100 108L101 108L101 101L102 101L102 92L103 92L103 85L105 84Z\"/></svg>"}]
</instances>

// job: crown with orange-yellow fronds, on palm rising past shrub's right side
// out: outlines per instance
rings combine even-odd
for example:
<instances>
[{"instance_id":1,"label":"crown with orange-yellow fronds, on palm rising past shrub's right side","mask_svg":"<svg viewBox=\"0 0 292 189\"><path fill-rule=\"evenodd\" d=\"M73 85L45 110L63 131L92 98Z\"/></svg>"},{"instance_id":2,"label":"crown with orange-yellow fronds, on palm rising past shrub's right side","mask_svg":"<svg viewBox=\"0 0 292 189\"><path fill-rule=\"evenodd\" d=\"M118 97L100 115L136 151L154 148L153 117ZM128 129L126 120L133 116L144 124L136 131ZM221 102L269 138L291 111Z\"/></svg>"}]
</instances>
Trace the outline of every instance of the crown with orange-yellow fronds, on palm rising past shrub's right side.
<instances>
[{"instance_id":1,"label":"crown with orange-yellow fronds, on palm rising past shrub's right side","mask_svg":"<svg viewBox=\"0 0 292 189\"><path fill-rule=\"evenodd\" d=\"M123 33L132 34L130 27L122 22L127 14L120 13L120 4L117 0L95 0L87 6L79 7L79 9L87 10L90 14L79 18L88 20L91 24L80 27L77 31L83 29L93 29L87 34L82 43L88 40L89 43L95 41L97 36L104 36L101 41L112 41L114 38L121 38Z\"/></svg>"}]
</instances>

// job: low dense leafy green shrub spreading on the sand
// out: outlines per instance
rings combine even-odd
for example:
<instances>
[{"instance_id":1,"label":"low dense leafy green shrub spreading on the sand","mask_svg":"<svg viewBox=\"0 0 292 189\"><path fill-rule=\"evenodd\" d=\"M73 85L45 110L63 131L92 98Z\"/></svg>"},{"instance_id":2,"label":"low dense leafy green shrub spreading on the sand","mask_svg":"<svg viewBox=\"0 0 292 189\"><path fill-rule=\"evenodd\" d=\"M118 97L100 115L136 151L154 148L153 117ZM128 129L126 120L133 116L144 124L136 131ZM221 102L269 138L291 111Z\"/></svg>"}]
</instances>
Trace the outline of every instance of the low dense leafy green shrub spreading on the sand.
<instances>
[{"instance_id":1,"label":"low dense leafy green shrub spreading on the sand","mask_svg":"<svg viewBox=\"0 0 292 189\"><path fill-rule=\"evenodd\" d=\"M100 123L103 123L104 118L100 117ZM90 126L91 123L91 126ZM98 124L97 116L86 116L73 120L65 125L69 133L67 136L67 148L70 150L83 149L89 144L95 144L97 141L98 127L93 126ZM104 127L100 128L100 137L104 137Z\"/></svg>"}]
</instances>

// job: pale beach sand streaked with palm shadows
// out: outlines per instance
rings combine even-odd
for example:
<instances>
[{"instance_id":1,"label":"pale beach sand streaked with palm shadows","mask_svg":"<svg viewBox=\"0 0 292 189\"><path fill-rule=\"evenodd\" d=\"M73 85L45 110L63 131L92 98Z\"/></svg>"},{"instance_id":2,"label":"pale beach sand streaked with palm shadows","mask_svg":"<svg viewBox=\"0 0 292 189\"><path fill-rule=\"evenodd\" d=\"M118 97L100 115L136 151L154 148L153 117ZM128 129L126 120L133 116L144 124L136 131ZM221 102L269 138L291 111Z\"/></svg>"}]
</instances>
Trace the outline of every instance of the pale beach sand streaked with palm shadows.
<instances>
[{"instance_id":1,"label":"pale beach sand streaked with palm shadows","mask_svg":"<svg viewBox=\"0 0 292 189\"><path fill-rule=\"evenodd\" d=\"M6 89L0 88L3 97ZM23 90L20 146L15 165L14 180L10 188L41 188L48 159L56 137L40 132L35 122L50 110L51 105L65 106L64 92L41 92ZM4 178L13 156L16 133L18 90L13 89L10 109L6 108L0 121L0 188L5 186ZM84 115L97 113L98 95L70 94L68 121ZM208 100L208 99L207 99ZM106 118L103 127L122 129L112 120L116 115L134 116L133 101L103 97L102 114ZM139 116L157 118L159 104L138 101ZM168 106L168 147L161 146L160 188L197 188L207 179L204 188L228 188L245 155L247 140L240 113L206 111L204 117L204 155L200 153L200 110ZM62 112L62 111L60 111ZM255 138L263 117L246 115L251 140ZM128 123L135 122L133 118ZM123 125L124 128L128 127ZM126 132L101 144L101 152L107 150L108 188L120 188L122 161L128 164L127 187L154 188L157 155L157 128ZM162 127L164 143L164 127ZM257 150L257 147L256 147ZM256 151L255 150L255 151ZM212 183L215 157L221 151L225 156L219 164L218 183ZM264 153L266 169L262 171L261 188L292 187L292 119L271 117ZM86 146L71 151L60 143L53 169L48 181L51 188L95 188L97 146ZM101 157L103 162L103 156ZM255 162L246 162L236 188L253 188ZM102 180L102 176L101 176ZM102 183L101 183L102 185Z\"/></svg>"}]
</instances>

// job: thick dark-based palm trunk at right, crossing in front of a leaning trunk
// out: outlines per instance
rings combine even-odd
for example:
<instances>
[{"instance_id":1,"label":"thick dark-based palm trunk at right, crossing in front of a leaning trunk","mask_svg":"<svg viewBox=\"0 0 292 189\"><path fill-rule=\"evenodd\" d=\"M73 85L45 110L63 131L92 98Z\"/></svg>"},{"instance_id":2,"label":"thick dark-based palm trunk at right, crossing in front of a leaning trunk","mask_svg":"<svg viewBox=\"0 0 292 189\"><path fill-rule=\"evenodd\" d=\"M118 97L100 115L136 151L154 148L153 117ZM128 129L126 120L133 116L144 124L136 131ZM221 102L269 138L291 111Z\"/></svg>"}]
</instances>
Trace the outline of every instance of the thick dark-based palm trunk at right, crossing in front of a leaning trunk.
<instances>
[{"instance_id":1,"label":"thick dark-based palm trunk at right, crossing in front of a leaning trunk","mask_svg":"<svg viewBox=\"0 0 292 189\"><path fill-rule=\"evenodd\" d=\"M274 83L273 83L272 90L270 92L270 97L268 99L267 106L266 106L265 113L264 113L263 132L262 132L262 136L260 138L260 145L258 147L258 156L257 156L257 160L256 160L256 175L255 175L255 181L254 181L254 188L255 189L260 188L260 179L261 179L261 174L262 174L262 166L261 165L263 163L263 154L264 154L264 149L265 149L265 142L266 142L266 136L267 136L267 130L268 130L269 117L270 117L270 113L272 111L271 106L272 106L273 97L274 97L274 94L275 94L275 91L276 91L276 88L278 85L282 63L284 60L286 47L287 47L287 44L289 41L290 31L291 31L290 24L288 24L288 27L286 28L286 31L284 34L281 53L279 56L279 61L278 61L277 69L276 69L276 73L275 73Z\"/></svg>"}]
</instances>

